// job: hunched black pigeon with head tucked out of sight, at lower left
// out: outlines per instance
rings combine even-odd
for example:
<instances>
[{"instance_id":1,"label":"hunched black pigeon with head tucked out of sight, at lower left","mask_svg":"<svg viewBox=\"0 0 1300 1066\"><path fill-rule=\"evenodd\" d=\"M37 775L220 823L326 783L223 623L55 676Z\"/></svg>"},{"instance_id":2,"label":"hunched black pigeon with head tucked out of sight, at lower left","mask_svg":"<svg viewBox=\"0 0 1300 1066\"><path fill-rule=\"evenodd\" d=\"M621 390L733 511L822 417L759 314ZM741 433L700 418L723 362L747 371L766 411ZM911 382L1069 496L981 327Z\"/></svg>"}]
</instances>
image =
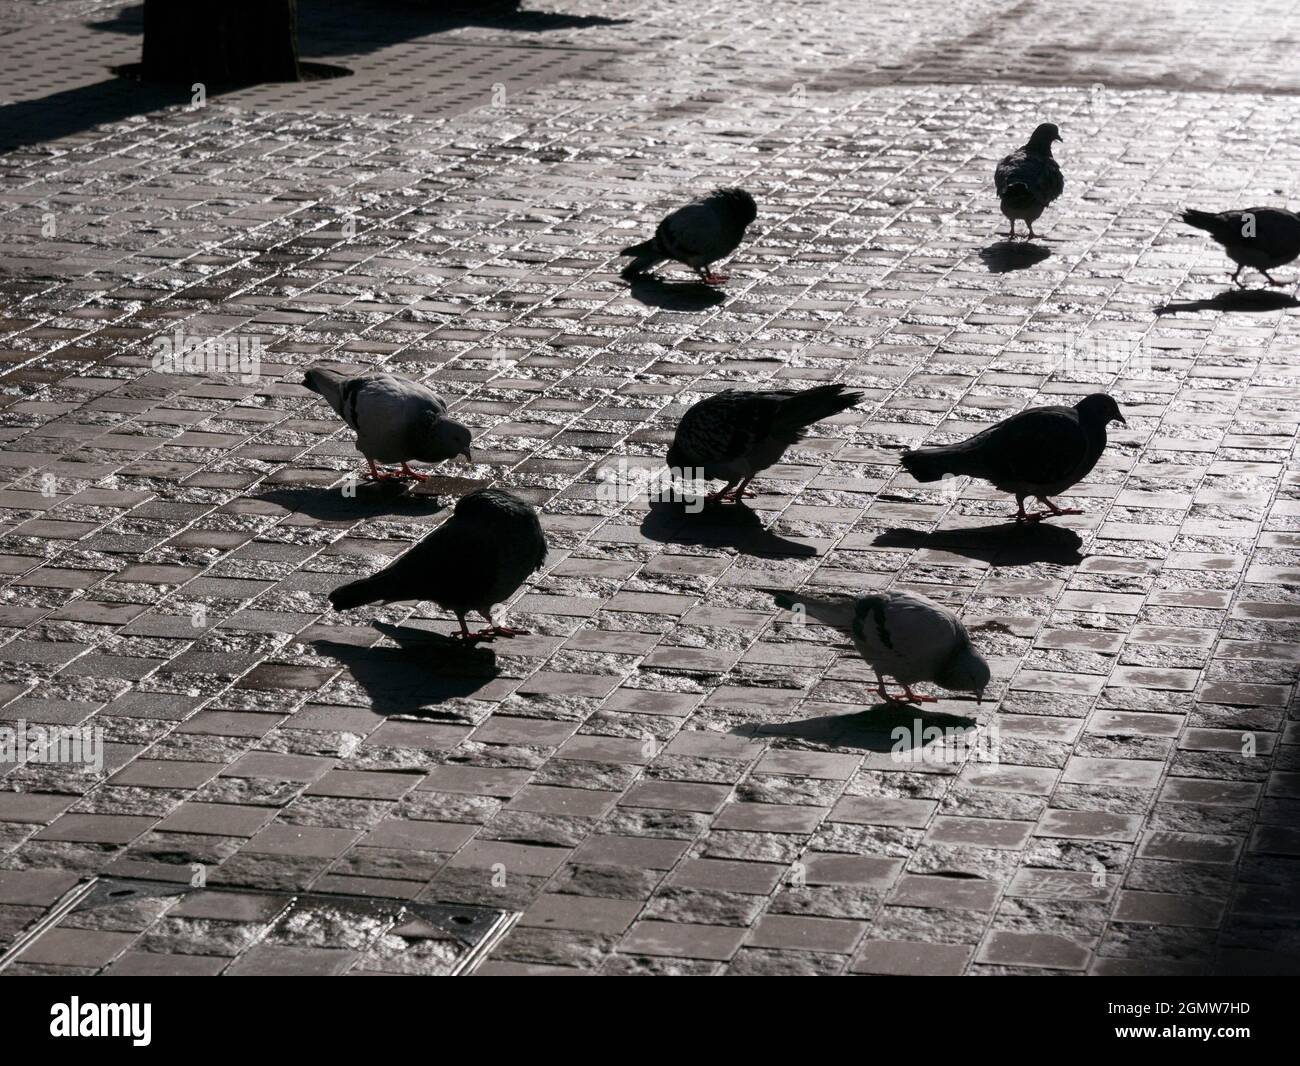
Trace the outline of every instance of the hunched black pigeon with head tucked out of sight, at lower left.
<instances>
[{"instance_id":1,"label":"hunched black pigeon with head tucked out of sight, at lower left","mask_svg":"<svg viewBox=\"0 0 1300 1066\"><path fill-rule=\"evenodd\" d=\"M329 595L335 611L367 603L429 599L460 623L467 644L515 637L493 620L493 607L510 599L546 562L546 536L537 512L503 489L478 489L456 502L451 517L370 577L341 585ZM471 633L465 615L477 611L488 628Z\"/></svg>"}]
</instances>

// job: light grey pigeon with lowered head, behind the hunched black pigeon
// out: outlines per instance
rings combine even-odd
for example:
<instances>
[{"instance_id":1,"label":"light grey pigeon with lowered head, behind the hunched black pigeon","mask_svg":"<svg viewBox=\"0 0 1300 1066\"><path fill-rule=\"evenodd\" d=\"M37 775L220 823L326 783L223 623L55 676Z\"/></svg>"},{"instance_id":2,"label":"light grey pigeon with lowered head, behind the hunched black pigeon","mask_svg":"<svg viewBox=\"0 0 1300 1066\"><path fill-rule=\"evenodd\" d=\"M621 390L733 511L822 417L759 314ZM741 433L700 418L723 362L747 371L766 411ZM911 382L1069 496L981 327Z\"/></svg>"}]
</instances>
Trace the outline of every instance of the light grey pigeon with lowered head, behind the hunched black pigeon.
<instances>
[{"instance_id":1,"label":"light grey pigeon with lowered head, behind the hunched black pigeon","mask_svg":"<svg viewBox=\"0 0 1300 1066\"><path fill-rule=\"evenodd\" d=\"M471 462L469 429L447 417L447 404L432 389L396 374L352 376L328 367L312 367L303 385L322 395L356 430L356 450L370 464L374 481L410 477L425 481L407 463L441 463L460 455ZM376 463L400 463L400 472L381 471Z\"/></svg>"}]
</instances>

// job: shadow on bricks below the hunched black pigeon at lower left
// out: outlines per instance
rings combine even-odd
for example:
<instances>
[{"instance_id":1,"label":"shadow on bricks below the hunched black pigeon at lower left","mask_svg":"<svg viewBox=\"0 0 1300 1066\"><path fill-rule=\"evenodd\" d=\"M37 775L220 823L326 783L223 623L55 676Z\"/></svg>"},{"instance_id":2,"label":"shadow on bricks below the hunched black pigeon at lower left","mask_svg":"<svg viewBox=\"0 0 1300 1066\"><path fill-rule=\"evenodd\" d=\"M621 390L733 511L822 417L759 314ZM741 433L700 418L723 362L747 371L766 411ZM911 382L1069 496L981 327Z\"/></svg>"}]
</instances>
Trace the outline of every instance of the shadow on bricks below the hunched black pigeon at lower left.
<instances>
[{"instance_id":1,"label":"shadow on bricks below the hunched black pigeon at lower left","mask_svg":"<svg viewBox=\"0 0 1300 1066\"><path fill-rule=\"evenodd\" d=\"M458 711L441 710L451 699L471 697L497 680L497 654L491 647L465 645L413 625L374 623L398 647L361 647L320 638L313 647L347 667L364 689L377 715L469 722Z\"/></svg>"}]
</instances>

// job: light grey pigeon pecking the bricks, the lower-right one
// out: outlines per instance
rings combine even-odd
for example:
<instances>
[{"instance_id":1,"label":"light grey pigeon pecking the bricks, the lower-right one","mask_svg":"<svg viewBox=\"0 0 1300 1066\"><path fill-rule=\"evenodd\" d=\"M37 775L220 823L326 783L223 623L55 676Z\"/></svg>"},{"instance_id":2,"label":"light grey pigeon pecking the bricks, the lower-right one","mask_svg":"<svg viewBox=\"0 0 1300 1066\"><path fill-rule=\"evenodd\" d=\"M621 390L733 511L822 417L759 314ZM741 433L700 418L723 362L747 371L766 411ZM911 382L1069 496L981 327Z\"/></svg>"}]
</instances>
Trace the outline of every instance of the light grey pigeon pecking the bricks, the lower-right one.
<instances>
[{"instance_id":1,"label":"light grey pigeon pecking the bricks, the lower-right one","mask_svg":"<svg viewBox=\"0 0 1300 1066\"><path fill-rule=\"evenodd\" d=\"M838 593L790 593L764 589L785 607L811 621L848 629L853 646L875 673L881 699L890 703L933 703L935 697L911 690L918 681L932 681L956 692L974 692L983 701L991 673L988 663L971 645L957 615L916 593L888 592L846 595ZM904 694L890 696L885 675L902 685Z\"/></svg>"}]
</instances>

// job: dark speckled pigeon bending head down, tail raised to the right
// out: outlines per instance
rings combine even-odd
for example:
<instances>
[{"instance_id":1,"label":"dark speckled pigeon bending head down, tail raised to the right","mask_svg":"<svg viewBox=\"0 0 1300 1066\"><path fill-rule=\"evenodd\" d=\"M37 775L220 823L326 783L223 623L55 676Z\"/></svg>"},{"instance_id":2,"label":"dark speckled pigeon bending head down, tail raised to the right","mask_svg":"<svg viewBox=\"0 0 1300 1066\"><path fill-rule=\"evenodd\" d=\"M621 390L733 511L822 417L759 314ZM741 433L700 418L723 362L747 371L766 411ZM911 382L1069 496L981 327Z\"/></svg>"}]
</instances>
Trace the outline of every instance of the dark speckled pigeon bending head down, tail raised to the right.
<instances>
[{"instance_id":1,"label":"dark speckled pigeon bending head down, tail raised to the right","mask_svg":"<svg viewBox=\"0 0 1300 1066\"><path fill-rule=\"evenodd\" d=\"M803 439L805 429L861 400L862 393L846 393L842 385L802 393L715 393L681 416L668 467L685 481L724 478L727 486L705 498L738 503L754 495L745 488L754 476L779 463L785 448Z\"/></svg>"}]
</instances>

